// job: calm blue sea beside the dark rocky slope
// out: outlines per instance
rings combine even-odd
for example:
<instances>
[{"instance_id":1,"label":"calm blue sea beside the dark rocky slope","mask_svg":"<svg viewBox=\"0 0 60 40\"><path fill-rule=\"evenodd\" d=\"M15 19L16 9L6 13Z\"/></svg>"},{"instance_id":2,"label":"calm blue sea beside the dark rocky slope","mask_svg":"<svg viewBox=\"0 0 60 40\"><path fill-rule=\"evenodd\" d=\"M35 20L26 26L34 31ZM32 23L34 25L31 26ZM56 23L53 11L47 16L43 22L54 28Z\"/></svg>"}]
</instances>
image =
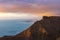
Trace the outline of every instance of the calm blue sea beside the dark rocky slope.
<instances>
[{"instance_id":1,"label":"calm blue sea beside the dark rocky slope","mask_svg":"<svg viewBox=\"0 0 60 40\"><path fill-rule=\"evenodd\" d=\"M13 36L29 28L34 22L0 20L0 37Z\"/></svg>"}]
</instances>

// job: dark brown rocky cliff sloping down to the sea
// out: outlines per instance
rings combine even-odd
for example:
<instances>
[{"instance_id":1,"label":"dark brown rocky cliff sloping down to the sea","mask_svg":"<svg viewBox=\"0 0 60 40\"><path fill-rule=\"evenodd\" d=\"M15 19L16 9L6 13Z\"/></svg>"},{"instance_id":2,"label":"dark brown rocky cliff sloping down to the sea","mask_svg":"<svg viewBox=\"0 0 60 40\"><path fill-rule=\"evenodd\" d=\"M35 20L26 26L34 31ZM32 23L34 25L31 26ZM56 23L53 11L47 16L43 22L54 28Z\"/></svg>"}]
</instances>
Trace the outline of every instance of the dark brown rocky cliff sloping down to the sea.
<instances>
[{"instance_id":1,"label":"dark brown rocky cliff sloping down to the sea","mask_svg":"<svg viewBox=\"0 0 60 40\"><path fill-rule=\"evenodd\" d=\"M0 40L60 40L60 16L44 16L25 31Z\"/></svg>"}]
</instances>

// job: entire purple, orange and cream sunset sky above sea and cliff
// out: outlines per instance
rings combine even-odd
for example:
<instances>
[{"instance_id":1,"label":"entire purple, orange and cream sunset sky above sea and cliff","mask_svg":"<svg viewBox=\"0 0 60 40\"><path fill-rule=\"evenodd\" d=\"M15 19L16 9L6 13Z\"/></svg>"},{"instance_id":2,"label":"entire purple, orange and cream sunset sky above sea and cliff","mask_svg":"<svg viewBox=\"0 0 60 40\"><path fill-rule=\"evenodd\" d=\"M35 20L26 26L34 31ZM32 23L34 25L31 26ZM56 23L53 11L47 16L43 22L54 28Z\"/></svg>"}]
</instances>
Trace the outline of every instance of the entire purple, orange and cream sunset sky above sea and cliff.
<instances>
[{"instance_id":1,"label":"entire purple, orange and cream sunset sky above sea and cliff","mask_svg":"<svg viewBox=\"0 0 60 40\"><path fill-rule=\"evenodd\" d=\"M30 15L26 17L28 19L33 16L35 19L36 16L60 16L60 0L0 0L0 19L24 18L22 14Z\"/></svg>"}]
</instances>

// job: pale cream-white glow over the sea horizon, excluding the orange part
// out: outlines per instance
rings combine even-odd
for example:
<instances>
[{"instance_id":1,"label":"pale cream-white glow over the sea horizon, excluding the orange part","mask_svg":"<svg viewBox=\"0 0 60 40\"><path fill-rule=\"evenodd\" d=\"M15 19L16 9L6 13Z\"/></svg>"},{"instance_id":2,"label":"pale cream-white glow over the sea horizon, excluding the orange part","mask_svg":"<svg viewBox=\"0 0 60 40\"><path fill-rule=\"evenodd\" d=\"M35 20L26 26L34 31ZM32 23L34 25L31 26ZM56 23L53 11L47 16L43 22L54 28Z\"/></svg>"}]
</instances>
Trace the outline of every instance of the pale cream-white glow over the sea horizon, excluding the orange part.
<instances>
[{"instance_id":1,"label":"pale cream-white glow over the sea horizon, excluding the orange part","mask_svg":"<svg viewBox=\"0 0 60 40\"><path fill-rule=\"evenodd\" d=\"M33 15L30 13L0 13L0 20L6 20L6 19L21 19L21 20L29 20L34 19L38 20L39 17L37 15Z\"/></svg>"}]
</instances>

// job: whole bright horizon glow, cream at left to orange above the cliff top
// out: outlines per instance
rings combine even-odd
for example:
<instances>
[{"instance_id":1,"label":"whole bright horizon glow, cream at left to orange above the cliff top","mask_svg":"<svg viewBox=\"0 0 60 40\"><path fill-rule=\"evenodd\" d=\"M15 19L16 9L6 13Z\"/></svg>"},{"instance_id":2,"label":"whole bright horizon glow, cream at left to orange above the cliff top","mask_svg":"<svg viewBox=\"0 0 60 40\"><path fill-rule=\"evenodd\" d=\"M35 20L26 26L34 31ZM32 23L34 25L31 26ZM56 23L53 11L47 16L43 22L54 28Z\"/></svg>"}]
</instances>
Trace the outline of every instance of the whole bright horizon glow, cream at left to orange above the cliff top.
<instances>
[{"instance_id":1,"label":"whole bright horizon glow, cream at left to orange above the cliff top","mask_svg":"<svg viewBox=\"0 0 60 40\"><path fill-rule=\"evenodd\" d=\"M29 19L34 19L34 20L40 20L43 18L43 16L57 16L56 14L53 13L6 13L6 12L0 12L0 20L6 20L6 19L22 19L22 20L29 20Z\"/></svg>"}]
</instances>

